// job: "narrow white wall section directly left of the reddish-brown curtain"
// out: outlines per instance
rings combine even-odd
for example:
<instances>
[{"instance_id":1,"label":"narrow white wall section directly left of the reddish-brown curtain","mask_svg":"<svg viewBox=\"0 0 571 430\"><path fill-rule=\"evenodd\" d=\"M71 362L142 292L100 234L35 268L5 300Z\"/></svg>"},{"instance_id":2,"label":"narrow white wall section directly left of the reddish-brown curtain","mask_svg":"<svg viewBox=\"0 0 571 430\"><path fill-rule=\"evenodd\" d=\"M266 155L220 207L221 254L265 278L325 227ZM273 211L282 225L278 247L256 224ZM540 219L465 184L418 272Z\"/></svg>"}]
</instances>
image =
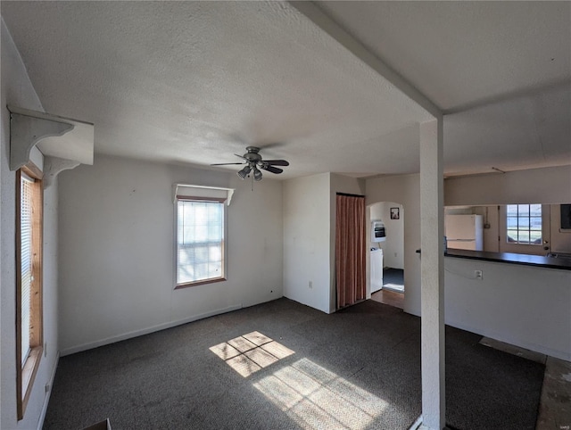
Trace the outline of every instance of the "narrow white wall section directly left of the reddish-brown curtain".
<instances>
[{"instance_id":1,"label":"narrow white wall section directly left of the reddish-brown curtain","mask_svg":"<svg viewBox=\"0 0 571 430\"><path fill-rule=\"evenodd\" d=\"M329 173L284 182L284 296L327 313L333 275L330 199Z\"/></svg>"}]
</instances>

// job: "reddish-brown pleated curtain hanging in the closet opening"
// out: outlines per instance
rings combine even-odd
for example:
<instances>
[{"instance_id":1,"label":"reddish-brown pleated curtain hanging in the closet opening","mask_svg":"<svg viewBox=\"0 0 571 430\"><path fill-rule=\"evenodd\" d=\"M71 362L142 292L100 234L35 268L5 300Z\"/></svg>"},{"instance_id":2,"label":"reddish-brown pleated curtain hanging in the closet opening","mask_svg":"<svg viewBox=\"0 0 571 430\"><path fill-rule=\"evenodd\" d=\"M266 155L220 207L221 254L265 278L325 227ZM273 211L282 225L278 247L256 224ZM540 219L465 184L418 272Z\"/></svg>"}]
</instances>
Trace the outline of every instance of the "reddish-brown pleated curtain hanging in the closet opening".
<instances>
[{"instance_id":1,"label":"reddish-brown pleated curtain hanging in the closet opening","mask_svg":"<svg viewBox=\"0 0 571 430\"><path fill-rule=\"evenodd\" d=\"M365 197L337 194L335 210L337 309L365 299Z\"/></svg>"}]
</instances>

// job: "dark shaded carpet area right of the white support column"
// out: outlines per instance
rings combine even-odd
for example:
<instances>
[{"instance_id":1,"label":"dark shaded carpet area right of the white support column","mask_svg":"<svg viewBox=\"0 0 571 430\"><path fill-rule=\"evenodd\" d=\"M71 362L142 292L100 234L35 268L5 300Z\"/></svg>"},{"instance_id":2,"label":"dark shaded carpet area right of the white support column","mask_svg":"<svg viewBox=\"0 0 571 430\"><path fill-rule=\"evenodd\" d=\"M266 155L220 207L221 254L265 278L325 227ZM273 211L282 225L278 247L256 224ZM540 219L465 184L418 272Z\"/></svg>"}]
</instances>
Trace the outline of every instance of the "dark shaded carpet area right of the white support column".
<instances>
[{"instance_id":1,"label":"dark shaded carpet area right of the white support column","mask_svg":"<svg viewBox=\"0 0 571 430\"><path fill-rule=\"evenodd\" d=\"M457 430L534 430L545 366L446 327L446 424Z\"/></svg>"}]
</instances>

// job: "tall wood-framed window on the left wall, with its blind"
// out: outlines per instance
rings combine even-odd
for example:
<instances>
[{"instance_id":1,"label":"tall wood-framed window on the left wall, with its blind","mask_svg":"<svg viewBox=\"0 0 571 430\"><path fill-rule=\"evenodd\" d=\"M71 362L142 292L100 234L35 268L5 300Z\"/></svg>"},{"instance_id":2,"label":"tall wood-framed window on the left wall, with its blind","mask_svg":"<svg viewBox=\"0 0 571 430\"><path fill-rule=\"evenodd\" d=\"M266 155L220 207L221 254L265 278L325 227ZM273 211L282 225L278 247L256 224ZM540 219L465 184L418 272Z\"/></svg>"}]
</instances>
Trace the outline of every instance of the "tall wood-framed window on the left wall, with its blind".
<instances>
[{"instance_id":1,"label":"tall wood-framed window on the left wall, with its blind","mask_svg":"<svg viewBox=\"0 0 571 430\"><path fill-rule=\"evenodd\" d=\"M42 357L43 186L36 166L16 174L16 357L18 419L26 404Z\"/></svg>"}]
</instances>

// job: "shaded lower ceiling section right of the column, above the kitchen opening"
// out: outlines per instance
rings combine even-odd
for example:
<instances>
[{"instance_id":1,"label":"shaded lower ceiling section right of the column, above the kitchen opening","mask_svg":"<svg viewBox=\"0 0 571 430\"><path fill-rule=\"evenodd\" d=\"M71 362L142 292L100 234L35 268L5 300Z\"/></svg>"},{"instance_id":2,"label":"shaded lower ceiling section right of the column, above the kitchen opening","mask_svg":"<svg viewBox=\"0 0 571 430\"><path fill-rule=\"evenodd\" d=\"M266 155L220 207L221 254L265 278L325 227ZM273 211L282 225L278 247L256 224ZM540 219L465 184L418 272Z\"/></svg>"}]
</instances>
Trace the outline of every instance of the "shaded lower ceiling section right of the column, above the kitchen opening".
<instances>
[{"instance_id":1,"label":"shaded lower ceiling section right of the column, above the kitchen opening","mask_svg":"<svg viewBox=\"0 0 571 430\"><path fill-rule=\"evenodd\" d=\"M571 164L568 84L444 118L449 175Z\"/></svg>"}]
</instances>

